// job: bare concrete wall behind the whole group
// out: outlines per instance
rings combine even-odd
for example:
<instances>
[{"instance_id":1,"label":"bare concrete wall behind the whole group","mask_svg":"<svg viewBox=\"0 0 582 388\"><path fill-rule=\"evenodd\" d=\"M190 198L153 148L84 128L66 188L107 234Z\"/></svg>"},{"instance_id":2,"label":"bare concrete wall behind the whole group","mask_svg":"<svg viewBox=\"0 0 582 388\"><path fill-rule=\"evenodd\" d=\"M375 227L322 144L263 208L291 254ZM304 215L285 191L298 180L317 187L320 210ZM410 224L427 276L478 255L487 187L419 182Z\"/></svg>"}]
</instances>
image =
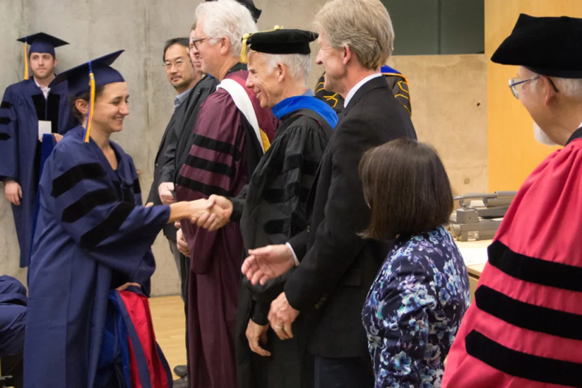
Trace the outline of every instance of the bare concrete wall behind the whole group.
<instances>
[{"instance_id":1,"label":"bare concrete wall behind the whole group","mask_svg":"<svg viewBox=\"0 0 582 388\"><path fill-rule=\"evenodd\" d=\"M186 36L193 23L193 0L0 0L0 90L22 79L22 45L16 39L45 31L71 45L59 48L59 70L124 48L115 63L130 90L130 115L118 141L141 171L144 194L150 188L159 139L172 114L174 91L162 66L164 41ZM307 29L324 0L257 0L260 30L275 24ZM316 46L314 46L316 48ZM315 55L313 55L315 60ZM421 140L441 152L457 191L484 190L486 184L485 70L482 56L396 57L392 62L410 80L413 121ZM311 84L322 69L313 67ZM476 103L481 102L481 108ZM468 182L468 183L465 183ZM0 185L2 186L2 185ZM3 190L3 188L2 188ZM158 268L152 294L179 293L168 243L154 247ZM18 245L8 202L0 198L0 275L26 281L18 269Z\"/></svg>"}]
</instances>

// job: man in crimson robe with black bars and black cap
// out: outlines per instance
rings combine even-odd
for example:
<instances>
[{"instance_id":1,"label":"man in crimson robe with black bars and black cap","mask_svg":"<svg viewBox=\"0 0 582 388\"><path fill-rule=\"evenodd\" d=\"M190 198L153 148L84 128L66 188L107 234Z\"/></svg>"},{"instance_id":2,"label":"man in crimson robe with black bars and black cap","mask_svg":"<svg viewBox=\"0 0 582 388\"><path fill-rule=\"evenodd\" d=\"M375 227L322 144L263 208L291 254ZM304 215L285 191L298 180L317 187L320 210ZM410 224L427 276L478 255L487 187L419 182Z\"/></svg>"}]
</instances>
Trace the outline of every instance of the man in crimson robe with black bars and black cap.
<instances>
[{"instance_id":1,"label":"man in crimson robe with black bars and black cap","mask_svg":"<svg viewBox=\"0 0 582 388\"><path fill-rule=\"evenodd\" d=\"M489 246L442 386L579 387L582 382L582 19L520 15L491 60L535 137L563 145L526 179ZM508 128L511 130L511 128Z\"/></svg>"}]
</instances>

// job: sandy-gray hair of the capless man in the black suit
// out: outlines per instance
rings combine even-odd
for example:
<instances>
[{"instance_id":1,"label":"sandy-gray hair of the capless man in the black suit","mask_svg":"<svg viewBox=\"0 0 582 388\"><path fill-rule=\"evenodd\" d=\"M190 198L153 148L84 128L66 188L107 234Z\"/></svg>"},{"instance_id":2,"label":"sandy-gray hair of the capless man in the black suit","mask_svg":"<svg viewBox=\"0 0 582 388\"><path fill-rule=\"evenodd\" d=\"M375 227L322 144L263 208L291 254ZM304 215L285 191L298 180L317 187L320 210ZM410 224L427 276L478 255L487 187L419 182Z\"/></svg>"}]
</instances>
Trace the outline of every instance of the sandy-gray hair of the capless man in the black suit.
<instances>
[{"instance_id":1,"label":"sandy-gray hair of the capless man in the black suit","mask_svg":"<svg viewBox=\"0 0 582 388\"><path fill-rule=\"evenodd\" d=\"M315 15L315 30L333 48L346 45L360 65L378 70L392 55L394 29L380 0L332 0Z\"/></svg>"}]
</instances>

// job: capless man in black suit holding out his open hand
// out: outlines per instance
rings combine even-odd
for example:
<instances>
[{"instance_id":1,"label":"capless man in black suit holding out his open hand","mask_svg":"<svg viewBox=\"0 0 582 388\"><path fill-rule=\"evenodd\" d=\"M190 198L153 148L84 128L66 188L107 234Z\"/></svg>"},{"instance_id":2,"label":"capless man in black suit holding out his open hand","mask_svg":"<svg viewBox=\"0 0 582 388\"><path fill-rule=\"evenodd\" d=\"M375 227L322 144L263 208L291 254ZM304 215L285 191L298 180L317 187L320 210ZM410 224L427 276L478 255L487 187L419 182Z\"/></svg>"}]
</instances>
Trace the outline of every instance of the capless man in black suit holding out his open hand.
<instances>
[{"instance_id":1,"label":"capless man in black suit holding out his open hand","mask_svg":"<svg viewBox=\"0 0 582 388\"><path fill-rule=\"evenodd\" d=\"M308 197L309 226L286 245L250 251L243 272L264 283L296 266L271 304L272 328L289 338L297 315L310 314L315 325L307 343L315 356L315 387L371 388L361 309L389 245L359 236L370 209L358 165L367 149L399 137L416 139L416 132L379 72L394 38L382 3L333 0L318 12L315 26L325 89L345 98L345 109Z\"/></svg>"}]
</instances>

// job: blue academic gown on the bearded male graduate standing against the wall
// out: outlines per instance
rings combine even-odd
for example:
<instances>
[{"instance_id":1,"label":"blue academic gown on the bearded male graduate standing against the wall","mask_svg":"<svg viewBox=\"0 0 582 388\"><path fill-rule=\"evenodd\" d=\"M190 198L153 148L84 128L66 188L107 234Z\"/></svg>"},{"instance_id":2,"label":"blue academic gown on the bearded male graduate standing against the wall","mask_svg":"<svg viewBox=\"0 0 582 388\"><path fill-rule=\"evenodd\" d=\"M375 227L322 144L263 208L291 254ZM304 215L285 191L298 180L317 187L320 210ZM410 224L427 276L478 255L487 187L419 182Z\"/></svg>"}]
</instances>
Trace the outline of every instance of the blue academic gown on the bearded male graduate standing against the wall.
<instances>
[{"instance_id":1,"label":"blue academic gown on the bearded male graduate standing against the wall","mask_svg":"<svg viewBox=\"0 0 582 388\"><path fill-rule=\"evenodd\" d=\"M69 109L67 84L51 88L45 99L31 77L6 88L0 103L0 181L16 180L22 187L20 206L12 205L20 246L20 266L29 264L38 179L40 142L38 120L48 120L52 133L65 134L78 124Z\"/></svg>"}]
</instances>

